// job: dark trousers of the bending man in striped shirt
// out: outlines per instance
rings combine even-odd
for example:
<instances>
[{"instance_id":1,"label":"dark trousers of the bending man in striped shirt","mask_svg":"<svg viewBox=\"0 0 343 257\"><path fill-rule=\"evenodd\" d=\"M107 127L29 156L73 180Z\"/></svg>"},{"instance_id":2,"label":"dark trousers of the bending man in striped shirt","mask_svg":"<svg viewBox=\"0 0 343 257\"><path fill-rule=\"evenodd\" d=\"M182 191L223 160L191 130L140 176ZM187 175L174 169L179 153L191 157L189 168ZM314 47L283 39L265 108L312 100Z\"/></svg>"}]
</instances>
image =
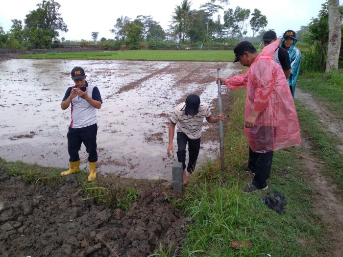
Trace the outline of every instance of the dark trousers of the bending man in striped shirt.
<instances>
[{"instance_id":1,"label":"dark trousers of the bending man in striped shirt","mask_svg":"<svg viewBox=\"0 0 343 257\"><path fill-rule=\"evenodd\" d=\"M189 139L185 133L177 132L177 160L182 163L182 168L186 168L186 145L188 142L188 165L187 171L193 172L196 167L196 160L200 150L200 138L198 139Z\"/></svg>"}]
</instances>

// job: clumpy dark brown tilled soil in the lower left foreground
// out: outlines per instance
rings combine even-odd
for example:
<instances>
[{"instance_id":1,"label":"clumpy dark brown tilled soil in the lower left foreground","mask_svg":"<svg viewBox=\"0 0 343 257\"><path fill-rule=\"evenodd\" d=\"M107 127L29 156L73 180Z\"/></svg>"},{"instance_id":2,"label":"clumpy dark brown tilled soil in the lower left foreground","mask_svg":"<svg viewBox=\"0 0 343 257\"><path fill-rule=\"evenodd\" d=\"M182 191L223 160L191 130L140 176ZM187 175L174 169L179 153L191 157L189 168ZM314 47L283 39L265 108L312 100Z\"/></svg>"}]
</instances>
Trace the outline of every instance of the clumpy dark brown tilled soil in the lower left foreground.
<instances>
[{"instance_id":1,"label":"clumpy dark brown tilled soil in the lower left foreground","mask_svg":"<svg viewBox=\"0 0 343 257\"><path fill-rule=\"evenodd\" d=\"M189 220L172 206L180 194L154 182L124 213L82 200L76 177L57 188L28 185L0 170L0 256L147 256L174 247ZM18 197L20 196L20 197ZM168 197L166 197L168 196Z\"/></svg>"}]
</instances>

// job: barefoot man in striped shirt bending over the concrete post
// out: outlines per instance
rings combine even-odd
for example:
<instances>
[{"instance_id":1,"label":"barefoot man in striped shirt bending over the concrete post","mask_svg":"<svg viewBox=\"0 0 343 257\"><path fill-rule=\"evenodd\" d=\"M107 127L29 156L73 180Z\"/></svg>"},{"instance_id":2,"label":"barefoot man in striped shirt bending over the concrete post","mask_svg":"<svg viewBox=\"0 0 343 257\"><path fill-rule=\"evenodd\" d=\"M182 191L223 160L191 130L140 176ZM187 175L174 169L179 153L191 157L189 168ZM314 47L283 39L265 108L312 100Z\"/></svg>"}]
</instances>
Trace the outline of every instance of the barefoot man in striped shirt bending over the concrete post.
<instances>
[{"instance_id":1,"label":"barefoot man in striped shirt bending over the concrete post","mask_svg":"<svg viewBox=\"0 0 343 257\"><path fill-rule=\"evenodd\" d=\"M192 174L196 167L196 160L200 150L201 129L204 118L209 123L217 123L220 119L224 119L224 115L221 114L213 117L208 105L201 102L198 95L190 94L185 102L176 106L170 119L167 155L170 157L171 152L174 153L172 140L176 126L176 154L178 162L182 163L184 185L188 183L186 174L186 145L188 142L189 161L187 171L189 174Z\"/></svg>"}]
</instances>

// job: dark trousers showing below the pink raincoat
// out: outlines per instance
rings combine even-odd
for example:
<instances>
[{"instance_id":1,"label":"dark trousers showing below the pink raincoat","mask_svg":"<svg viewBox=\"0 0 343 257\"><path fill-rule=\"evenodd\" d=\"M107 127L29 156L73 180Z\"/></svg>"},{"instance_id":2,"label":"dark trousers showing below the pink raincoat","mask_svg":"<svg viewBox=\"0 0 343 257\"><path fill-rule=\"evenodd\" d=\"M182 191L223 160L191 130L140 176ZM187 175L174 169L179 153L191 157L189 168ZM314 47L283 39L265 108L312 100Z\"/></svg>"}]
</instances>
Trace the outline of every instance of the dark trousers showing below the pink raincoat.
<instances>
[{"instance_id":1,"label":"dark trousers showing below the pink raincoat","mask_svg":"<svg viewBox=\"0 0 343 257\"><path fill-rule=\"evenodd\" d=\"M273 151L267 153L255 153L249 147L249 169L255 173L252 183L257 188L267 187L267 179L270 175Z\"/></svg>"}]
</instances>

